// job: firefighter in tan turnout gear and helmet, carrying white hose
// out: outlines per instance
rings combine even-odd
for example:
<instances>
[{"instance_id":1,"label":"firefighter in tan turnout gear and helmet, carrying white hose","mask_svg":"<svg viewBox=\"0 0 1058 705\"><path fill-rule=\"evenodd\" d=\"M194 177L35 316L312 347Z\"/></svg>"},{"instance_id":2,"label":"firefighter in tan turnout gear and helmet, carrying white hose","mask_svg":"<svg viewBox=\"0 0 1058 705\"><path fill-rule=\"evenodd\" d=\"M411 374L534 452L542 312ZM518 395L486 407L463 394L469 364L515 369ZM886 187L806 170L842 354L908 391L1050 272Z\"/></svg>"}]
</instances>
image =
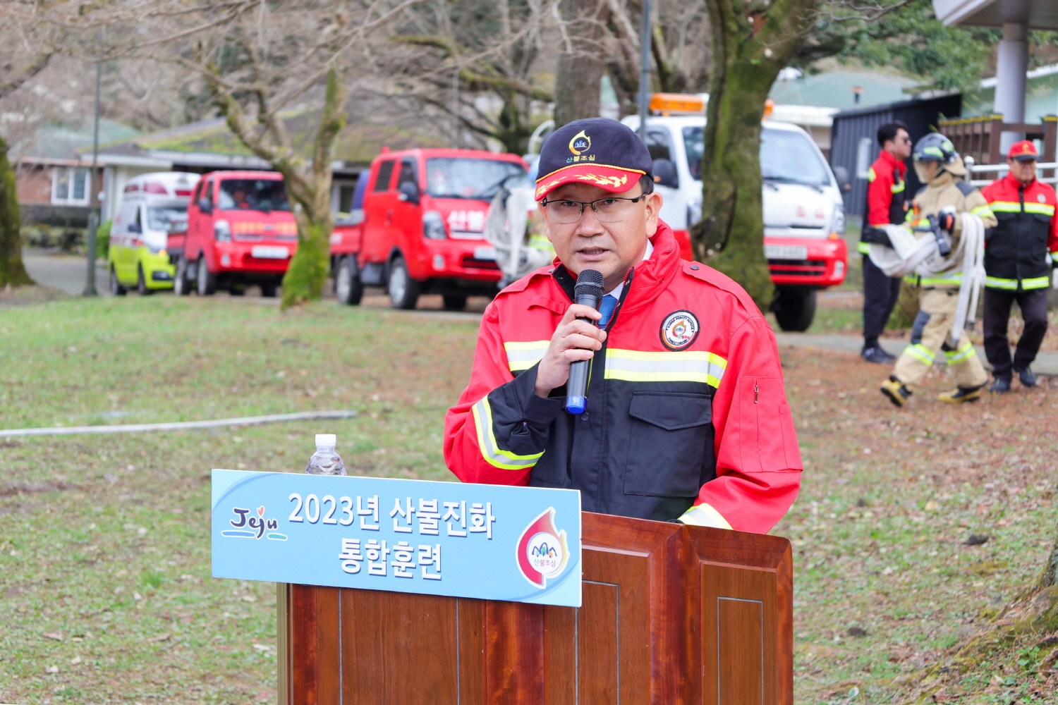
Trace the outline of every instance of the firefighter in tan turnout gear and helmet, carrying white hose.
<instances>
[{"instance_id":1,"label":"firefighter in tan turnout gear and helmet, carrying white hose","mask_svg":"<svg viewBox=\"0 0 1058 705\"><path fill-rule=\"evenodd\" d=\"M935 132L927 134L915 145L912 156L918 180L926 184L915 196L915 215L908 223L916 235L934 237L929 228L935 225L940 228L936 237L949 242L951 252L955 253L963 236L960 214L977 216L985 228L996 226L988 202L981 191L964 181L966 167L947 137ZM963 258L967 257L970 254L964 252ZM957 388L943 392L937 398L957 404L981 397L988 376L973 345L965 331L960 331L957 344L952 345L950 339L963 276L960 259L944 272L917 277L919 312L912 329L911 345L897 358L890 378L881 384L881 392L896 406L904 406L942 351L955 372Z\"/></svg>"}]
</instances>

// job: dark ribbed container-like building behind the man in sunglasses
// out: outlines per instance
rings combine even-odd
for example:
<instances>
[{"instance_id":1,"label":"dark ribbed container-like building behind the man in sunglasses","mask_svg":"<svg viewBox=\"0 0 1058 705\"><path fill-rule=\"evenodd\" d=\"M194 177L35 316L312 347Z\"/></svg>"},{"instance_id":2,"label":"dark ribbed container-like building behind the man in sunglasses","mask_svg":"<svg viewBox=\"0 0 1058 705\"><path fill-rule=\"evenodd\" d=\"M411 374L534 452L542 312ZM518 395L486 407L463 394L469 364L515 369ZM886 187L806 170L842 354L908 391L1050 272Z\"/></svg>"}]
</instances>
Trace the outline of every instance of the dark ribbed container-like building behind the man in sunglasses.
<instances>
[{"instance_id":1,"label":"dark ribbed container-like building behind the man in sunglasses","mask_svg":"<svg viewBox=\"0 0 1058 705\"><path fill-rule=\"evenodd\" d=\"M878 159L878 152L881 151L877 141L880 126L900 120L908 126L911 140L918 142L935 130L942 117L960 117L962 108L963 96L955 93L938 98L901 100L835 113L831 127L831 166L841 166L849 171L852 189L842 193L845 212L853 216L864 215L868 181L857 174L857 166L865 171ZM857 165L860 161L860 143L864 137L870 138L870 148L865 150L867 163ZM908 160L907 184L909 197L913 197L922 187L911 167L911 160Z\"/></svg>"}]
</instances>

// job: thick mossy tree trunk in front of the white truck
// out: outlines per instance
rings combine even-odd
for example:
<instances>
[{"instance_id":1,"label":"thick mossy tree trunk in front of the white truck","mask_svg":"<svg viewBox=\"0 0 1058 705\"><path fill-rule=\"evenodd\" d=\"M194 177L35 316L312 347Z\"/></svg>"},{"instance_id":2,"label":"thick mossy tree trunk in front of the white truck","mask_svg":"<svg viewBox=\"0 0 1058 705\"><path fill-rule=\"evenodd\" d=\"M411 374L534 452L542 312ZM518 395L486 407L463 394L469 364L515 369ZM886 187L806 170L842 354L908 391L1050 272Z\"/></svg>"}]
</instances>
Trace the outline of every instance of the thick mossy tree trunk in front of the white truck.
<instances>
[{"instance_id":1,"label":"thick mossy tree trunk in front of the white truck","mask_svg":"<svg viewBox=\"0 0 1058 705\"><path fill-rule=\"evenodd\" d=\"M741 283L761 311L771 304L764 258L761 118L779 71L805 42L819 0L707 0L712 29L703 220L695 256Z\"/></svg>"}]
</instances>

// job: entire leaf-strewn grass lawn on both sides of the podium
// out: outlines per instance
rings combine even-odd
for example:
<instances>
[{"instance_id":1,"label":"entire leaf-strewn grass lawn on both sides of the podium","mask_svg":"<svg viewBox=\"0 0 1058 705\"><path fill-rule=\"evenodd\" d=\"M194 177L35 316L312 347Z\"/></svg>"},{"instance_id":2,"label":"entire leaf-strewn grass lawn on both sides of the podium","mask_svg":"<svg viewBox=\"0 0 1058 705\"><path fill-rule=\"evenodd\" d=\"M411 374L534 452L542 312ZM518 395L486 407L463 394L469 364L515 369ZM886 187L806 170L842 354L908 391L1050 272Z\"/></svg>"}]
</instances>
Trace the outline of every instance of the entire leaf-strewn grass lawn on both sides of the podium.
<instances>
[{"instance_id":1,"label":"entire leaf-strewn grass lawn on both sides of the podium","mask_svg":"<svg viewBox=\"0 0 1058 705\"><path fill-rule=\"evenodd\" d=\"M338 433L351 474L451 479L444 410L469 317L171 296L0 309L0 428L312 409L357 419L0 442L0 702L274 702L271 583L209 577L213 467L302 471ZM950 408L937 369L782 351L805 472L795 545L799 703L895 703L1039 570L1054 534L1058 383ZM970 534L988 541L967 545ZM1034 637L1035 638L1035 637ZM943 702L1054 702L1026 637ZM1024 663L1019 663L1024 662ZM972 695L964 690L977 688Z\"/></svg>"}]
</instances>

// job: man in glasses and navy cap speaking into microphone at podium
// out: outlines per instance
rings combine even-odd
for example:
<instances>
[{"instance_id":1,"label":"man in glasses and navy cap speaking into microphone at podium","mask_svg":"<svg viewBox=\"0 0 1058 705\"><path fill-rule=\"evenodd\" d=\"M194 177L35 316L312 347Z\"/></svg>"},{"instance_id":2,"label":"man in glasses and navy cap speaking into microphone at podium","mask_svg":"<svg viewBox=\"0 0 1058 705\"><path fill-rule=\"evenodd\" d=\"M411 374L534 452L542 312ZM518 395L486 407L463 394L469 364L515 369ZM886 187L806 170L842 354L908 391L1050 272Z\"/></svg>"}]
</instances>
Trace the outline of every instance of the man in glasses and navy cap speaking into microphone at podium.
<instances>
[{"instance_id":1,"label":"man in glasses and navy cap speaking into microphone at podium","mask_svg":"<svg viewBox=\"0 0 1058 705\"><path fill-rule=\"evenodd\" d=\"M760 310L680 259L628 127L565 125L539 173L558 260L486 310L470 384L445 419L448 466L463 482L579 489L585 512L766 533L802 466ZM598 310L573 303L591 277ZM567 389L579 360L586 403Z\"/></svg>"}]
</instances>

